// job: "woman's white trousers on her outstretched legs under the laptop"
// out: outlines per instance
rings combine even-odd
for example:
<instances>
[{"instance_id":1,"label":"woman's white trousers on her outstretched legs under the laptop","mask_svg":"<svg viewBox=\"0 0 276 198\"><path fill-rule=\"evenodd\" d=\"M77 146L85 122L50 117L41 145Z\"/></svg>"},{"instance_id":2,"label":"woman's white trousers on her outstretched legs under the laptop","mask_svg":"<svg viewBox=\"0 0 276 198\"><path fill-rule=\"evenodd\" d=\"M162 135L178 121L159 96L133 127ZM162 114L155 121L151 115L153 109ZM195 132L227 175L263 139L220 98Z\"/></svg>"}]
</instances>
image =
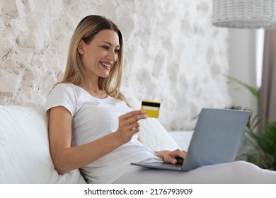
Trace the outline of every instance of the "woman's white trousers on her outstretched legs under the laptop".
<instances>
[{"instance_id":1,"label":"woman's white trousers on her outstretched legs under the laptop","mask_svg":"<svg viewBox=\"0 0 276 198\"><path fill-rule=\"evenodd\" d=\"M120 177L115 184L276 184L276 171L259 168L252 163L236 161L207 165L190 171L142 168Z\"/></svg>"}]
</instances>

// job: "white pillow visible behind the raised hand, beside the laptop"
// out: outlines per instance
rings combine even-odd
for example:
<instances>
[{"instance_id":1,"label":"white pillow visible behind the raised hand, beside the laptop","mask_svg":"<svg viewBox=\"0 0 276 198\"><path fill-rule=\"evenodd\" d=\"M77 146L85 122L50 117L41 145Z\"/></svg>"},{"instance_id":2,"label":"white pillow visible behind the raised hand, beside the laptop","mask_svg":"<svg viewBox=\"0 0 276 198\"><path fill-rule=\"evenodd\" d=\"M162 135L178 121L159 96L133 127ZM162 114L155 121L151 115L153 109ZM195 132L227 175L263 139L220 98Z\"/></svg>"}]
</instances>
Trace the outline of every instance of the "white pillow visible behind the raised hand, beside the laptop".
<instances>
[{"instance_id":1,"label":"white pillow visible behind the raised hand, beside the laptop","mask_svg":"<svg viewBox=\"0 0 276 198\"><path fill-rule=\"evenodd\" d=\"M128 98L130 105L135 110L141 109L141 103L138 100L133 98ZM173 140L170 134L166 129L160 124L156 118L148 117L146 120L139 121L140 126L142 127L139 135L144 141L144 144L151 148L154 151L160 150L175 150L180 148L176 141Z\"/></svg>"}]
</instances>

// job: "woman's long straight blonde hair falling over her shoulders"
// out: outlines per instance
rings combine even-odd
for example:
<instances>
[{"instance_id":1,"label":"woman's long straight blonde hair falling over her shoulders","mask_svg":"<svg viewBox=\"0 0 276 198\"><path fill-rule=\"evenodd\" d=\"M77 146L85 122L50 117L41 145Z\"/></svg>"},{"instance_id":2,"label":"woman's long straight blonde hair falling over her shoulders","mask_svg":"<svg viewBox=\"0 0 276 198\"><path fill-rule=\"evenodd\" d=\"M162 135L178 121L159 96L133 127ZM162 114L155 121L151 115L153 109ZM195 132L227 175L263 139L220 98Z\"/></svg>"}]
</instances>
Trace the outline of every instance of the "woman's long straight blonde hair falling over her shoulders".
<instances>
[{"instance_id":1,"label":"woman's long straight blonde hair falling over her shoulders","mask_svg":"<svg viewBox=\"0 0 276 198\"><path fill-rule=\"evenodd\" d=\"M76 30L71 37L64 77L59 83L73 83L76 85L84 83L86 71L81 61L78 45L81 40L84 40L86 44L91 42L93 37L99 33L100 30L114 30L119 36L120 50L118 52L117 62L115 62L115 65L110 69L109 76L107 78L100 77L98 79L98 87L111 97L127 103L125 96L120 92L123 67L122 33L115 23L103 16L86 16L79 22L79 25L76 26ZM56 83L54 86L59 83ZM127 105L129 104L127 103Z\"/></svg>"}]
</instances>

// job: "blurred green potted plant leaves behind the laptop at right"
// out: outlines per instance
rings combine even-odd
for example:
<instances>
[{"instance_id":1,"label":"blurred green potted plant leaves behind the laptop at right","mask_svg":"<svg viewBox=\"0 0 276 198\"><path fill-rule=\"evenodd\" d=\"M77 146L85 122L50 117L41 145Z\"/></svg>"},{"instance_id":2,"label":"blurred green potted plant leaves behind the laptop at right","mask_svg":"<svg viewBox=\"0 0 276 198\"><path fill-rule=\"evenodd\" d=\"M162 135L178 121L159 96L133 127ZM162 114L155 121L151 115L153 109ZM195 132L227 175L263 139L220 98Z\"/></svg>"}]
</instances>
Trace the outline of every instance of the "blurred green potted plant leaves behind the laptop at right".
<instances>
[{"instance_id":1,"label":"blurred green potted plant leaves behind the laptop at right","mask_svg":"<svg viewBox=\"0 0 276 198\"><path fill-rule=\"evenodd\" d=\"M246 88L260 103L258 91L236 78L229 77L229 80ZM232 106L232 109L245 110L242 107ZM263 129L260 132L260 129ZM260 116L251 112L244 133L246 153L238 156L238 160L244 160L260 168L276 170L276 122L261 122Z\"/></svg>"}]
</instances>

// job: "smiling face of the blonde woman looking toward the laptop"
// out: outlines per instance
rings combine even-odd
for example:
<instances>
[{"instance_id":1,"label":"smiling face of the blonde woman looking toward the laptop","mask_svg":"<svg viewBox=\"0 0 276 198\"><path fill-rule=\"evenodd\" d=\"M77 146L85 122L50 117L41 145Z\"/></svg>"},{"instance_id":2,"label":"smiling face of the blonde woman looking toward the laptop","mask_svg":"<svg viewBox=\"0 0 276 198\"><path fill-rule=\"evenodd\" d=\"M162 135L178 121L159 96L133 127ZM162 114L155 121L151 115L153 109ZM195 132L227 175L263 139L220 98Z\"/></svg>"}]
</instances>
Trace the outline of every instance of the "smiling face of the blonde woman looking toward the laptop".
<instances>
[{"instance_id":1,"label":"smiling face of the blonde woman looking toward the laptop","mask_svg":"<svg viewBox=\"0 0 276 198\"><path fill-rule=\"evenodd\" d=\"M101 30L88 44L81 40L78 50L88 76L106 78L118 59L119 36L114 30Z\"/></svg>"}]
</instances>

